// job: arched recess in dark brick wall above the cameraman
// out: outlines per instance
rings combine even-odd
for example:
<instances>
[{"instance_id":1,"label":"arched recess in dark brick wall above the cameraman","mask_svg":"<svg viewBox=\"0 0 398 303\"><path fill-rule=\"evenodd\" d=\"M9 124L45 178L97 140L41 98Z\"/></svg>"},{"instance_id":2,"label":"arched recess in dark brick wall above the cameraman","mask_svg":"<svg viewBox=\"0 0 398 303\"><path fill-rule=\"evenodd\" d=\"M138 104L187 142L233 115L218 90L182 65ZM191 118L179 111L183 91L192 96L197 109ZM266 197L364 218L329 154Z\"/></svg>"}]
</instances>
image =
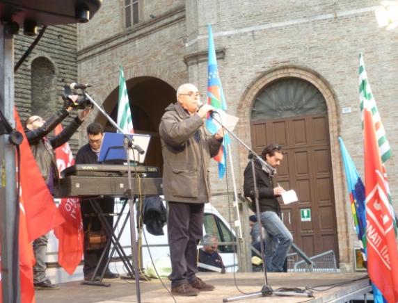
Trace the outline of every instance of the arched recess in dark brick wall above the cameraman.
<instances>
[{"instance_id":1,"label":"arched recess in dark brick wall above the cameraman","mask_svg":"<svg viewBox=\"0 0 398 303\"><path fill-rule=\"evenodd\" d=\"M31 64L31 101L32 113L48 117L54 112L56 88L54 85L54 65L45 57L35 58Z\"/></svg>"}]
</instances>

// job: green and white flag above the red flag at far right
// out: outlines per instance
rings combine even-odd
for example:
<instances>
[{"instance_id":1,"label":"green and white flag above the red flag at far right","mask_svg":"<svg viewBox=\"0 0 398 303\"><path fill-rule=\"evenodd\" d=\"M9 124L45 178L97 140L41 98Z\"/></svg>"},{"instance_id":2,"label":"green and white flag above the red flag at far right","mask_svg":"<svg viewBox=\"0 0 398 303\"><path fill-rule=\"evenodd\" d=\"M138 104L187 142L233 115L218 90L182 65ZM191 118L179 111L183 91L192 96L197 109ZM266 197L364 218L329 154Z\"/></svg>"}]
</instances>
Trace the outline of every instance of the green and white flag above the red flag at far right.
<instances>
[{"instance_id":1,"label":"green and white flag above the red flag at far right","mask_svg":"<svg viewBox=\"0 0 398 303\"><path fill-rule=\"evenodd\" d=\"M363 54L359 54L359 99L360 99L360 112L362 113L362 128L363 128L363 101L367 100L370 105L374 121L374 129L376 130L377 142L379 145L379 153L381 162L385 163L391 157L390 143L388 143L385 136L384 126L381 123L379 110L377 110L376 100L374 100L372 90L370 89L369 81L367 81L367 74L365 70L365 63Z\"/></svg>"}]
</instances>

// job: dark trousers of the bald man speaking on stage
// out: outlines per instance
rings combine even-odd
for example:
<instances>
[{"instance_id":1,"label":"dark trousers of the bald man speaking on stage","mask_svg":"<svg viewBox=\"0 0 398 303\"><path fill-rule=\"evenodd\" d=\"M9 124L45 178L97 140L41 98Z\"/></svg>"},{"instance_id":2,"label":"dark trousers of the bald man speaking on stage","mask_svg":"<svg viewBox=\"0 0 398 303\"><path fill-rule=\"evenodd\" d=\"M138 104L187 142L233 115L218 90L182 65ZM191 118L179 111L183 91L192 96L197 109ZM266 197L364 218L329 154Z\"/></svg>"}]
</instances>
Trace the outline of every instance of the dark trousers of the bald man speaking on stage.
<instances>
[{"instance_id":1,"label":"dark trousers of the bald man speaking on stage","mask_svg":"<svg viewBox=\"0 0 398 303\"><path fill-rule=\"evenodd\" d=\"M171 287L196 280L197 245L203 235L205 204L168 202L168 245Z\"/></svg>"}]
</instances>

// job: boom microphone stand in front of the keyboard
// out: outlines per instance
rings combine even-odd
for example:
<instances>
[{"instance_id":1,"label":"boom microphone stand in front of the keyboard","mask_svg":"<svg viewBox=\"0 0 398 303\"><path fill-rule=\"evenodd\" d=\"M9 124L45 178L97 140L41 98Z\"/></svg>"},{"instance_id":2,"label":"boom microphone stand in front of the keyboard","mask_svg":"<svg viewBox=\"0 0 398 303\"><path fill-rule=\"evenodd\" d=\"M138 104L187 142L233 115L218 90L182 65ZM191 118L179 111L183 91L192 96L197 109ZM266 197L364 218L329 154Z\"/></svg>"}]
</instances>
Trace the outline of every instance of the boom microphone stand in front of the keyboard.
<instances>
[{"instance_id":1,"label":"boom microphone stand in front of the keyboard","mask_svg":"<svg viewBox=\"0 0 398 303\"><path fill-rule=\"evenodd\" d=\"M97 104L93 100L93 98L88 95L88 93L83 90L84 96L93 104L100 112L102 115L106 117L106 119L111 122L113 126L115 126L120 133L123 134L125 137L123 140L123 147L125 147L125 152L126 152L126 161L127 161L127 180L128 180L128 188L126 190L126 195L127 199L129 202L129 215L130 215L130 235L131 235L131 241L132 241L132 259L133 259L133 266L134 266L134 276L136 280L136 297L137 297L137 302L141 303L141 290L140 290L140 279L139 279L139 272L138 272L138 252L137 252L137 243L136 243L136 223L134 219L134 193L133 193L133 188L132 188L132 170L130 166L130 159L129 159L129 151L132 149L136 149L139 154L144 154L145 151L139 146L134 143L133 138L130 138L127 136L127 133L124 133L122 129L116 124L115 121L107 114L105 113L105 110ZM133 153L134 154L134 153Z\"/></svg>"}]
</instances>

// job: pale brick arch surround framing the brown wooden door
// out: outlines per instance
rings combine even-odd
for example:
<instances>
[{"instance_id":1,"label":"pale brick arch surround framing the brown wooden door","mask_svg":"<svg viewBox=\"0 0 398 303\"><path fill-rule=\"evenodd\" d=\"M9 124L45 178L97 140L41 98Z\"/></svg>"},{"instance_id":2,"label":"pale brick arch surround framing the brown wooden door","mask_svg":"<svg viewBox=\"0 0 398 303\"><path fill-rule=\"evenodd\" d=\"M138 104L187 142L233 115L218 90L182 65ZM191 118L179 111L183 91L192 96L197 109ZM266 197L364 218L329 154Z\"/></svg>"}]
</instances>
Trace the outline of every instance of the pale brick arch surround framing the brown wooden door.
<instances>
[{"instance_id":1,"label":"pale brick arch surround framing the brown wooden door","mask_svg":"<svg viewBox=\"0 0 398 303\"><path fill-rule=\"evenodd\" d=\"M239 106L237 115L239 117L239 125L237 127L237 133L239 137L244 140L244 142L250 146L250 113L253 107L253 102L255 97L259 92L269 83L276 81L277 79L296 77L299 79L306 80L321 92L326 101L326 106L328 108L328 121L329 121L329 137L331 142L331 162L333 167L333 190L335 195L335 213L337 221L337 239L339 242L339 254L340 261L342 263L348 263L351 260L351 253L349 250L349 230L347 224L347 206L344 200L344 183L343 183L343 171L342 162L340 156L340 148L338 143L339 134L339 123L338 123L338 105L337 97L328 84L326 79L324 79L317 72L307 69L304 67L297 66L285 66L278 67L276 69L271 69L264 74L260 75L255 79L244 92L239 101ZM241 171L247 165L247 151L243 147L239 147L239 159Z\"/></svg>"}]
</instances>

